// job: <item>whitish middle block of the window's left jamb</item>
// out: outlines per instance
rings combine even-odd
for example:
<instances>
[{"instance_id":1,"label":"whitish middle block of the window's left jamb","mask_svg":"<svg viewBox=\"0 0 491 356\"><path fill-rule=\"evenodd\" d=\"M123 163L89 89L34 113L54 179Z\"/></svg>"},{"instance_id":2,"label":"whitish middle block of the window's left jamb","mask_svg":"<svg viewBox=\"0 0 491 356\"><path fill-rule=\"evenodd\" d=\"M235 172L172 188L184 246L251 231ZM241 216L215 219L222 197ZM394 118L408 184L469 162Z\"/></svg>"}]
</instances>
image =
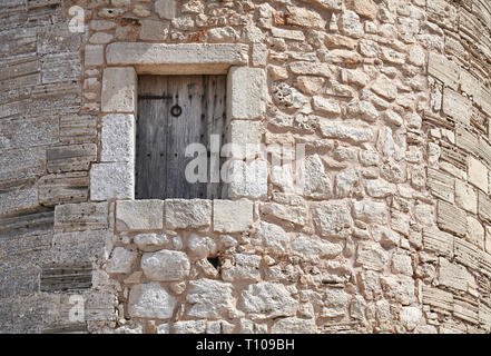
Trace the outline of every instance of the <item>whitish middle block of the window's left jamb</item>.
<instances>
[{"instance_id":1,"label":"whitish middle block of the window's left jamb","mask_svg":"<svg viewBox=\"0 0 491 356\"><path fill-rule=\"evenodd\" d=\"M135 117L110 113L102 117L101 162L134 162L136 140Z\"/></svg>"}]
</instances>

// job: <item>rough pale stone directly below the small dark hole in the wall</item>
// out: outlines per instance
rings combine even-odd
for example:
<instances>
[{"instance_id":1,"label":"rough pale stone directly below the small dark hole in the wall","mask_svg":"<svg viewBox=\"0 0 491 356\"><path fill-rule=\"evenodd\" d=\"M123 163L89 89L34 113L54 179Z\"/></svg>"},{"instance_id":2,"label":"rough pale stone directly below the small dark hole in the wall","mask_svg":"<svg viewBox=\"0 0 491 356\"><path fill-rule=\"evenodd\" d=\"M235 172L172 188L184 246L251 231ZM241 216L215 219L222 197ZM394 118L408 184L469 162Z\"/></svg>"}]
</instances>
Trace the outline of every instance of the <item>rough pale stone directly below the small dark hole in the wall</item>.
<instances>
[{"instance_id":1,"label":"rough pale stone directly below the small dark hole in the wall","mask_svg":"<svg viewBox=\"0 0 491 356\"><path fill-rule=\"evenodd\" d=\"M235 312L235 297L229 283L202 278L189 281L186 300L192 304L189 316L219 319Z\"/></svg>"}]
</instances>

